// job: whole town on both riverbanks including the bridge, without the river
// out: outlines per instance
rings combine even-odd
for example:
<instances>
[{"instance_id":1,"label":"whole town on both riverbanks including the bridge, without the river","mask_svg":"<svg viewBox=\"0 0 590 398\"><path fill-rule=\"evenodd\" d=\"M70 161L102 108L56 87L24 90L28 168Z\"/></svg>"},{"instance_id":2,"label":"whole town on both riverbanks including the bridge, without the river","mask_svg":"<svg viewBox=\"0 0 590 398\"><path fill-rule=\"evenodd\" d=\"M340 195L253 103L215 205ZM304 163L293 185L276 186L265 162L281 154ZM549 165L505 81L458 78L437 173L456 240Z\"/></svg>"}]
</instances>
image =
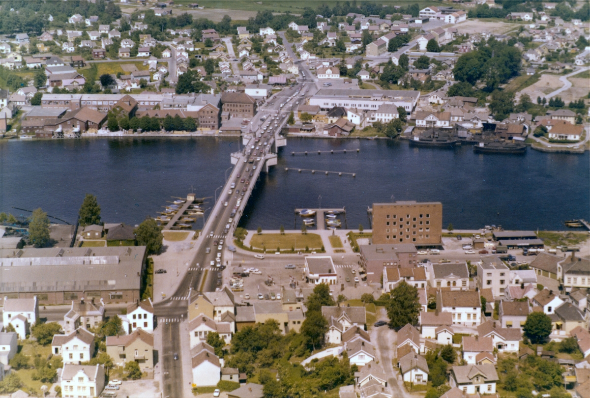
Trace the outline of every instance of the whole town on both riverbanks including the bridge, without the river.
<instances>
[{"instance_id":1,"label":"whole town on both riverbanks including the bridge, without the river","mask_svg":"<svg viewBox=\"0 0 590 398\"><path fill-rule=\"evenodd\" d=\"M584 219L454 229L367 192L366 229L321 204L241 227L289 139L588 151L589 2L402 3L2 4L2 141L238 146L212 198L135 226L90 193L74 225L0 213L0 396L590 398Z\"/></svg>"}]
</instances>

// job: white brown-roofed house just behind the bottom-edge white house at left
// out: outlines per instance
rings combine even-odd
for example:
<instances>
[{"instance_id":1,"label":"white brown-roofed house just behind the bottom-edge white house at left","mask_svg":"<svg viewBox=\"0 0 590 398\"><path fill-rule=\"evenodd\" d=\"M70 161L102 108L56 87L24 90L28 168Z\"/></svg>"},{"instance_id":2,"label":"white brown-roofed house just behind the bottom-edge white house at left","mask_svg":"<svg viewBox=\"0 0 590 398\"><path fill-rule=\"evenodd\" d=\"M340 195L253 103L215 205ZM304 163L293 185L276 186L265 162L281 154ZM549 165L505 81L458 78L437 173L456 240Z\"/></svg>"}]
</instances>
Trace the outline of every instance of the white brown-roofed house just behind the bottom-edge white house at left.
<instances>
[{"instance_id":1,"label":"white brown-roofed house just behind the bottom-edge white house at left","mask_svg":"<svg viewBox=\"0 0 590 398\"><path fill-rule=\"evenodd\" d=\"M70 334L55 334L51 341L51 353L61 355L64 363L89 361L94 353L94 333L77 328Z\"/></svg>"}]
</instances>

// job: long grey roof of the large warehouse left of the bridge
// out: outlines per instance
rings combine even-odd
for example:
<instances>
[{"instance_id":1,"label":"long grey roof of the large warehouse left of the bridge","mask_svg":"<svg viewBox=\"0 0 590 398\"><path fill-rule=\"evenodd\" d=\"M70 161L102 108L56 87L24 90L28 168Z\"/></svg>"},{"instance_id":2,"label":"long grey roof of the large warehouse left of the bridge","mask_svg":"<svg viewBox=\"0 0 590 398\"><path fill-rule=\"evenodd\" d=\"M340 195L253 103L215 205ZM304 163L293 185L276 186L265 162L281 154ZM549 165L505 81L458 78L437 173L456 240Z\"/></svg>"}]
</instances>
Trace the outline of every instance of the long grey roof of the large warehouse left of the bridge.
<instances>
[{"instance_id":1,"label":"long grey roof of the large warehouse left of the bridge","mask_svg":"<svg viewBox=\"0 0 590 398\"><path fill-rule=\"evenodd\" d=\"M0 293L139 289L145 252L146 246L27 248L17 258L18 251L2 249Z\"/></svg>"}]
</instances>

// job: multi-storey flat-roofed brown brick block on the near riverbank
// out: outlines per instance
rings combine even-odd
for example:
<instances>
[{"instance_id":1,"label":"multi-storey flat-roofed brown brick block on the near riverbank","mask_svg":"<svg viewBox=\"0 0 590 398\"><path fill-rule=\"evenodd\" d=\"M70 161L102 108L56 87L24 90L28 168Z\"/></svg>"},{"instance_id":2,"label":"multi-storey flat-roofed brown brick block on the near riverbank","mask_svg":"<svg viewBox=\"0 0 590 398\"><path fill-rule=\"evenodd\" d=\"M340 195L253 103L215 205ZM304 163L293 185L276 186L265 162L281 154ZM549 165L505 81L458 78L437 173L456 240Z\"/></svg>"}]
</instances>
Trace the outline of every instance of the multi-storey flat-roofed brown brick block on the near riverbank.
<instances>
[{"instance_id":1,"label":"multi-storey flat-roofed brown brick block on the near riverbank","mask_svg":"<svg viewBox=\"0 0 590 398\"><path fill-rule=\"evenodd\" d=\"M373 244L434 246L441 233L441 202L373 203Z\"/></svg>"}]
</instances>

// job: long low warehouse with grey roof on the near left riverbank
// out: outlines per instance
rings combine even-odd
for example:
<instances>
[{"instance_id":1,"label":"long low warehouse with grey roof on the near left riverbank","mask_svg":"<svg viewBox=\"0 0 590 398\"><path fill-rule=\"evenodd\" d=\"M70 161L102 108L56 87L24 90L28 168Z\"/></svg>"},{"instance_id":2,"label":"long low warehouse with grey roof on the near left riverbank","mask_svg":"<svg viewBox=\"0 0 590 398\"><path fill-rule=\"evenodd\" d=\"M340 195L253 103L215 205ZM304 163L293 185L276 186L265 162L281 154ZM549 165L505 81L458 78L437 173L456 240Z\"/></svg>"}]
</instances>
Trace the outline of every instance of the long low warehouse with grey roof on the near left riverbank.
<instances>
[{"instance_id":1,"label":"long low warehouse with grey roof on the near left riverbank","mask_svg":"<svg viewBox=\"0 0 590 398\"><path fill-rule=\"evenodd\" d=\"M1 249L0 304L35 295L41 305L140 300L146 258L145 246Z\"/></svg>"}]
</instances>

